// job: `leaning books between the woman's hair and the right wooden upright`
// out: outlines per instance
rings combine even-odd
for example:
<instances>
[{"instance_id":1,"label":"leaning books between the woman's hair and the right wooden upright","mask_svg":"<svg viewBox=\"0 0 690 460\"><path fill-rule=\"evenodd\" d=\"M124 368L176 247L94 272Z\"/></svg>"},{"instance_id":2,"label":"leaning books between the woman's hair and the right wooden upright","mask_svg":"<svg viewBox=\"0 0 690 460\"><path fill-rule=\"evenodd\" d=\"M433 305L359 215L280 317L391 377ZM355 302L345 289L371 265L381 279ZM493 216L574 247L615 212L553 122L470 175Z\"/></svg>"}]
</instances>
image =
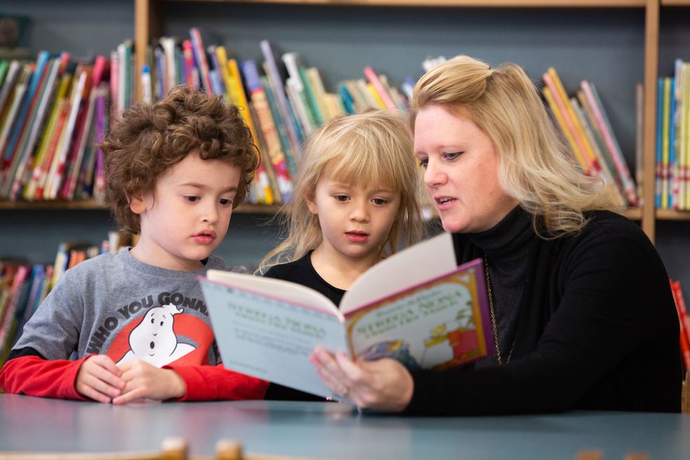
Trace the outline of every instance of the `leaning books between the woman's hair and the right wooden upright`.
<instances>
[{"instance_id":1,"label":"leaning books between the woman's hair and the right wooden upright","mask_svg":"<svg viewBox=\"0 0 690 460\"><path fill-rule=\"evenodd\" d=\"M582 172L600 178L618 205L638 206L639 189L632 179L594 84L583 80L575 95L568 96L554 68L544 72L542 79L544 98ZM641 89L638 89L638 93L641 94ZM641 96L638 96L638 100L641 100ZM641 110L637 110L637 113L641 117ZM637 126L638 132L641 132L641 120L637 120ZM641 142L636 156L641 162ZM641 172L641 165L637 165L637 171Z\"/></svg>"}]
</instances>

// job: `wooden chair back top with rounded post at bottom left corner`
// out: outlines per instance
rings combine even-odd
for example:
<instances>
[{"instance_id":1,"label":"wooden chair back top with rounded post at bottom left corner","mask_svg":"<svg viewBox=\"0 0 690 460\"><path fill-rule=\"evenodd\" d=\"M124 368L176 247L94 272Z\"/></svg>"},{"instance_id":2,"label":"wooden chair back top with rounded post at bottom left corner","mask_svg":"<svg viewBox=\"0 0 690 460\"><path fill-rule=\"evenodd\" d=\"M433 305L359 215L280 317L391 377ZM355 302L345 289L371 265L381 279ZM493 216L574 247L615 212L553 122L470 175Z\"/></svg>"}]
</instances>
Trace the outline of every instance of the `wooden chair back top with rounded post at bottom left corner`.
<instances>
[{"instance_id":1,"label":"wooden chair back top with rounded post at bottom left corner","mask_svg":"<svg viewBox=\"0 0 690 460\"><path fill-rule=\"evenodd\" d=\"M167 437L160 452L0 452L0 460L188 460L182 437Z\"/></svg>"}]
</instances>

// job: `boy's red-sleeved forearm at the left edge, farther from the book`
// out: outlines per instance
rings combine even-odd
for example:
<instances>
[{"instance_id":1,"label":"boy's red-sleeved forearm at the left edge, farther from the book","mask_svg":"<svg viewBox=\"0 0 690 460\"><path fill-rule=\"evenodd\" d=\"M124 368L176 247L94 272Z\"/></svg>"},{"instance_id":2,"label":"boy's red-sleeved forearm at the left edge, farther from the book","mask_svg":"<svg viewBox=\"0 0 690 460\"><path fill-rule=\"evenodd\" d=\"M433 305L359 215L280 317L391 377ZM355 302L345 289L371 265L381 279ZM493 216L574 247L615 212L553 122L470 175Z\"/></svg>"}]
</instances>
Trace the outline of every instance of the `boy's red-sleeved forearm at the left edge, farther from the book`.
<instances>
[{"instance_id":1,"label":"boy's red-sleeved forearm at the left edge, farther from the book","mask_svg":"<svg viewBox=\"0 0 690 460\"><path fill-rule=\"evenodd\" d=\"M35 350L24 348L18 351L24 352L23 355L10 359L0 369L0 388L5 392L86 401L75 390L75 378L88 356L77 361L48 361Z\"/></svg>"}]
</instances>

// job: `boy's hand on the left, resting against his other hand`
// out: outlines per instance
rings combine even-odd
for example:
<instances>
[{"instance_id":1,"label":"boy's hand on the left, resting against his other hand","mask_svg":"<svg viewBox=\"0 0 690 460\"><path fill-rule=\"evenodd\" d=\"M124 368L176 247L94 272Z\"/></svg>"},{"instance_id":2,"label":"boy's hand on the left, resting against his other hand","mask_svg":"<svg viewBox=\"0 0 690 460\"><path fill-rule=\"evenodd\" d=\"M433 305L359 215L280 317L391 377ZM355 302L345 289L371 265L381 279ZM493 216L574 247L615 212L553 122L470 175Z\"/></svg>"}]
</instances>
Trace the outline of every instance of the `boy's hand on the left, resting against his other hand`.
<instances>
[{"instance_id":1,"label":"boy's hand on the left, resting against his other hand","mask_svg":"<svg viewBox=\"0 0 690 460\"><path fill-rule=\"evenodd\" d=\"M120 396L124 380L122 371L117 368L113 359L106 354L96 354L84 359L77 372L75 390L79 395L98 402L110 402Z\"/></svg>"}]
</instances>

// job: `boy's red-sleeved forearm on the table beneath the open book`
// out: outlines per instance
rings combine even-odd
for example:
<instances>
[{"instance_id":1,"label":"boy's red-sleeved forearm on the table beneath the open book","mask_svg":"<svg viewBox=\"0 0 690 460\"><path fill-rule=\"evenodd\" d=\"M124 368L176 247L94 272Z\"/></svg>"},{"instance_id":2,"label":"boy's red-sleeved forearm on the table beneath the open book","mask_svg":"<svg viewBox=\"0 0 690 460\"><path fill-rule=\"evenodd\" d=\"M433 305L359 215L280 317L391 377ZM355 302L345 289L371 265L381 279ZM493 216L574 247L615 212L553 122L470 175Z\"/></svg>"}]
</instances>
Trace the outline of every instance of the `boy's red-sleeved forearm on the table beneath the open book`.
<instances>
[{"instance_id":1,"label":"boy's red-sleeved forearm on the table beneath the open book","mask_svg":"<svg viewBox=\"0 0 690 460\"><path fill-rule=\"evenodd\" d=\"M186 394L178 401L262 400L269 382L217 366L163 366L181 376Z\"/></svg>"}]
</instances>

